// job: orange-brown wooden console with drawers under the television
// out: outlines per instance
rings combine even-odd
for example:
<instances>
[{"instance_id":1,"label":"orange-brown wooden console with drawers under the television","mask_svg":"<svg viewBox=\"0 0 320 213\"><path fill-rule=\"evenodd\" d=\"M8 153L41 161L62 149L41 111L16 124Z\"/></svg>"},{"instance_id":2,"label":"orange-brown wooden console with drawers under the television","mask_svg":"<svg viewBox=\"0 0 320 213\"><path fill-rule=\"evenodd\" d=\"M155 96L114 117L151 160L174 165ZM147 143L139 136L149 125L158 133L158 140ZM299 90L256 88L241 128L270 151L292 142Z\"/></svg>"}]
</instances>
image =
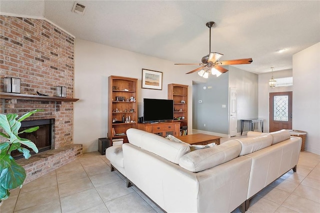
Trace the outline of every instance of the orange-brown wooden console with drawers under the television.
<instances>
[{"instance_id":1,"label":"orange-brown wooden console with drawers under the television","mask_svg":"<svg viewBox=\"0 0 320 213\"><path fill-rule=\"evenodd\" d=\"M151 132L162 137L171 134L175 137L180 135L180 122L167 121L156 123L138 123L138 129Z\"/></svg>"}]
</instances>

